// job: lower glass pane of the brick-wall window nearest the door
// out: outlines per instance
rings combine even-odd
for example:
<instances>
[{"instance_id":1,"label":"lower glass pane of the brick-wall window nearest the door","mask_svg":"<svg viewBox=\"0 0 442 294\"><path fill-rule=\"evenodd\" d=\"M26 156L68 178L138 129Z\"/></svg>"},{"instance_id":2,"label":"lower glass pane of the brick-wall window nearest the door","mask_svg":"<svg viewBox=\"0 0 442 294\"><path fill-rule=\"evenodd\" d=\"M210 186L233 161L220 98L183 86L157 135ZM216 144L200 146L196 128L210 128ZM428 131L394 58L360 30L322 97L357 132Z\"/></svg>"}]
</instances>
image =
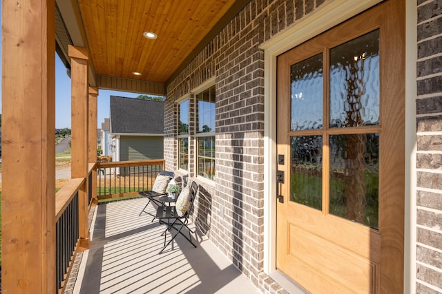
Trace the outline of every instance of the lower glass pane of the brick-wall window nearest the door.
<instances>
[{"instance_id":1,"label":"lower glass pane of the brick-wall window nearest the door","mask_svg":"<svg viewBox=\"0 0 442 294\"><path fill-rule=\"evenodd\" d=\"M198 176L215 176L215 136L198 138Z\"/></svg>"}]
</instances>

